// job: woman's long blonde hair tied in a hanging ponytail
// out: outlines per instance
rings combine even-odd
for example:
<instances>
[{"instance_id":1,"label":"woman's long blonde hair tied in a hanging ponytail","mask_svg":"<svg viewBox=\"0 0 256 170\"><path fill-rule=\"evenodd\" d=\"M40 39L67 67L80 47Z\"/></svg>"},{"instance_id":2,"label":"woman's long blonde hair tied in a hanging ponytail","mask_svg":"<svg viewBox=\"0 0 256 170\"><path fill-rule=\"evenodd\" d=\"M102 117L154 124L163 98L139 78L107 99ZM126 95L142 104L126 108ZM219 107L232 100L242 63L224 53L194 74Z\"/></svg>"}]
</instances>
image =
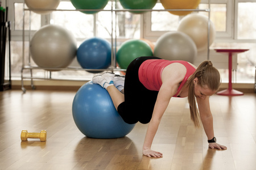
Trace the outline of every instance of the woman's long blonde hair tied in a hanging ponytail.
<instances>
[{"instance_id":1,"label":"woman's long blonde hair tied in a hanging ponytail","mask_svg":"<svg viewBox=\"0 0 256 170\"><path fill-rule=\"evenodd\" d=\"M211 61L202 62L199 67L197 67L196 71L190 78L188 79L188 103L190 109L191 120L194 122L195 127L200 127L199 122L199 111L196 107L196 99L195 99L195 84L193 80L197 78L197 84L200 86L208 86L208 88L212 91L217 91L220 87L220 73L218 70L213 67Z\"/></svg>"}]
</instances>

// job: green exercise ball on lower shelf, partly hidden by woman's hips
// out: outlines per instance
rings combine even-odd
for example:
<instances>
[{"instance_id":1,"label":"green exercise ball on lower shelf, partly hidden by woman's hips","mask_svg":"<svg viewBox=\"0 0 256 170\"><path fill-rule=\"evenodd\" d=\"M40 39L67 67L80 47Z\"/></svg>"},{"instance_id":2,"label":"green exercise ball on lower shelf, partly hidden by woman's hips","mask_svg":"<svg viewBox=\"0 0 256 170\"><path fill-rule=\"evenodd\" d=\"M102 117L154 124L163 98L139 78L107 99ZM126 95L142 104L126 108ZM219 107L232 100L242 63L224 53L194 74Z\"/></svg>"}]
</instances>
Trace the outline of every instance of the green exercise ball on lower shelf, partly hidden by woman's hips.
<instances>
[{"instance_id":1,"label":"green exercise ball on lower shelf, partly hidden by woman's hips","mask_svg":"<svg viewBox=\"0 0 256 170\"><path fill-rule=\"evenodd\" d=\"M153 56L150 46L142 40L127 40L117 51L117 63L122 69L127 69L130 62L142 56Z\"/></svg>"}]
</instances>

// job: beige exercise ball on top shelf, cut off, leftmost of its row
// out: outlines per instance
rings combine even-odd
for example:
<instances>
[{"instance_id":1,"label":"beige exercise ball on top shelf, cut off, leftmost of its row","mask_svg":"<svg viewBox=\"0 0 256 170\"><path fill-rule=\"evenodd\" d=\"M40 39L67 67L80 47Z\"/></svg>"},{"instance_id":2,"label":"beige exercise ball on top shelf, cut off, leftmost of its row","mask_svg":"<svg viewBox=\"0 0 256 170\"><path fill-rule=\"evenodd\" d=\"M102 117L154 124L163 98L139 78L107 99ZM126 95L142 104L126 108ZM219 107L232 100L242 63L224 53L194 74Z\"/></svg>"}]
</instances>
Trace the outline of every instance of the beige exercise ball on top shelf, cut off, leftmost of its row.
<instances>
[{"instance_id":1,"label":"beige exercise ball on top shelf, cut off, leftmost of its row","mask_svg":"<svg viewBox=\"0 0 256 170\"><path fill-rule=\"evenodd\" d=\"M25 0L25 3L28 8L30 9L40 9L40 10L55 10L59 4L60 0ZM40 11L40 10L33 10L33 12L36 12L38 14L49 14L52 11Z\"/></svg>"}]
</instances>

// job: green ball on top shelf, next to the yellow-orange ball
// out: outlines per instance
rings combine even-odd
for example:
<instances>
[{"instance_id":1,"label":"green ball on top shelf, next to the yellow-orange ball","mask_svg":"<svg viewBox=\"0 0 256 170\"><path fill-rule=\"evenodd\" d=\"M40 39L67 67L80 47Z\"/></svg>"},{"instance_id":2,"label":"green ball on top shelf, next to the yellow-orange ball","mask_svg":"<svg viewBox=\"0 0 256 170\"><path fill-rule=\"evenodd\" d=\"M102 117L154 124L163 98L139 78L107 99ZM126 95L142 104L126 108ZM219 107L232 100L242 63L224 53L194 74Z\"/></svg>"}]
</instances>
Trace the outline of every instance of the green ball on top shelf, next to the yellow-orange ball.
<instances>
[{"instance_id":1,"label":"green ball on top shelf, next to the yellow-orange ball","mask_svg":"<svg viewBox=\"0 0 256 170\"><path fill-rule=\"evenodd\" d=\"M123 8L137 10L137 9L152 9L157 0L119 0ZM146 11L130 11L134 14L141 14Z\"/></svg>"}]
</instances>

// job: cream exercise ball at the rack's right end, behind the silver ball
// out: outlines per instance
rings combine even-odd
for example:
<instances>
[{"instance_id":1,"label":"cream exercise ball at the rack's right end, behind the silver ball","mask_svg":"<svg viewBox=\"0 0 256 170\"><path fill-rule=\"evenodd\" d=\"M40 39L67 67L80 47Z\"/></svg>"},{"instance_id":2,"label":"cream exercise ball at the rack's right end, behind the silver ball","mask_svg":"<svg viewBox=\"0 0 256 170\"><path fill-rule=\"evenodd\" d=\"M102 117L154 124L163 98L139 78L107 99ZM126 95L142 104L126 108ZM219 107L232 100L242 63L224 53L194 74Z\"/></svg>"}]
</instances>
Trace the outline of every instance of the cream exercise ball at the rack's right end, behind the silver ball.
<instances>
[{"instance_id":1,"label":"cream exercise ball at the rack's right end, behind the silver ball","mask_svg":"<svg viewBox=\"0 0 256 170\"><path fill-rule=\"evenodd\" d=\"M203 14L189 14L181 19L177 31L184 32L195 42L197 51L208 47L208 17ZM210 21L209 46L215 39L215 28Z\"/></svg>"}]
</instances>

